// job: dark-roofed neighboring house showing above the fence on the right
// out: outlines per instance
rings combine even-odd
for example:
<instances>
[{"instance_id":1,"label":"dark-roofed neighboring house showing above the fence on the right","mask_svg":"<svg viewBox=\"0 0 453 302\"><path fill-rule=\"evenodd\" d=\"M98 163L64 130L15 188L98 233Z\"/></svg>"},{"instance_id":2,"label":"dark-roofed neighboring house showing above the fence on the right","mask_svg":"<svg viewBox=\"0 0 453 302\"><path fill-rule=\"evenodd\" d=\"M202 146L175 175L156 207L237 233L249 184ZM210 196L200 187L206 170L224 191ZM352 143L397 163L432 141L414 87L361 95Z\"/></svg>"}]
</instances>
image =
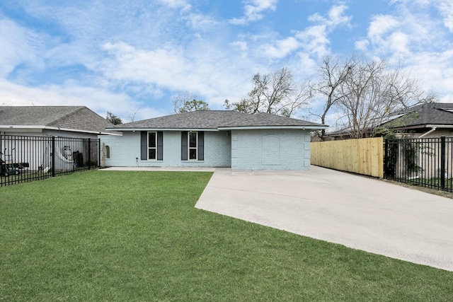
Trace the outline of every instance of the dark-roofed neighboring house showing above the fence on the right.
<instances>
[{"instance_id":1,"label":"dark-roofed neighboring house showing above the fence on the right","mask_svg":"<svg viewBox=\"0 0 453 302\"><path fill-rule=\"evenodd\" d=\"M453 103L424 103L392 112L376 126L390 129L397 137L407 139L453 137ZM348 133L348 129L342 129L326 137L349 139Z\"/></svg>"}]
</instances>

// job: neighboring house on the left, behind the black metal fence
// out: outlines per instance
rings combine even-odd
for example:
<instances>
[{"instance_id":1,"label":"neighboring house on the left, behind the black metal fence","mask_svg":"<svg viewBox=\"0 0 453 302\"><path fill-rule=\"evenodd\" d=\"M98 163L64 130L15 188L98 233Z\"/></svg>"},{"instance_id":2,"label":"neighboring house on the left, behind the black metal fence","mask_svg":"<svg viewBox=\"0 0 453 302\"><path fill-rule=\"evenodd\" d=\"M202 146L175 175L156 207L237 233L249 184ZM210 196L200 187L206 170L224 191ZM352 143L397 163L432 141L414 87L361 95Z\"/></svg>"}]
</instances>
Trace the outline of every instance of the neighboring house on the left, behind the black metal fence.
<instances>
[{"instance_id":1,"label":"neighboring house on the left, behind the black metal fence","mask_svg":"<svg viewBox=\"0 0 453 302\"><path fill-rule=\"evenodd\" d=\"M83 164L83 157L98 161L98 135L120 135L105 128L114 125L85 106L0 106L0 160L20 163L29 170L50 166L55 156L56 168ZM55 152L52 140L55 139ZM76 153L76 158L74 158ZM0 162L1 162L0 161Z\"/></svg>"}]
</instances>

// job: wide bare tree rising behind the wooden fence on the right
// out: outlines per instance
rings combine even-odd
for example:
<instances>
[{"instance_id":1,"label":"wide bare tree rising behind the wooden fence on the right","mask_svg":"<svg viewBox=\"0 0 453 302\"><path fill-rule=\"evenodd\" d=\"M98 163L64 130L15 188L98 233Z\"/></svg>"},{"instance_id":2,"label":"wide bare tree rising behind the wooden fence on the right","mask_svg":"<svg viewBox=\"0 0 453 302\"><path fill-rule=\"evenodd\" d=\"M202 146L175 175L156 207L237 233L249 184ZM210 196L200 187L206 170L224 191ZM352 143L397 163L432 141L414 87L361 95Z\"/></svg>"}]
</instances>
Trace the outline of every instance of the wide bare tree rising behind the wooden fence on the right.
<instances>
[{"instance_id":1,"label":"wide bare tree rising behind the wooden fence on the right","mask_svg":"<svg viewBox=\"0 0 453 302\"><path fill-rule=\"evenodd\" d=\"M350 73L340 84L338 109L352 138L373 136L391 112L435 100L416 80L385 61L352 57Z\"/></svg>"}]
</instances>

